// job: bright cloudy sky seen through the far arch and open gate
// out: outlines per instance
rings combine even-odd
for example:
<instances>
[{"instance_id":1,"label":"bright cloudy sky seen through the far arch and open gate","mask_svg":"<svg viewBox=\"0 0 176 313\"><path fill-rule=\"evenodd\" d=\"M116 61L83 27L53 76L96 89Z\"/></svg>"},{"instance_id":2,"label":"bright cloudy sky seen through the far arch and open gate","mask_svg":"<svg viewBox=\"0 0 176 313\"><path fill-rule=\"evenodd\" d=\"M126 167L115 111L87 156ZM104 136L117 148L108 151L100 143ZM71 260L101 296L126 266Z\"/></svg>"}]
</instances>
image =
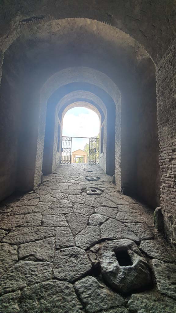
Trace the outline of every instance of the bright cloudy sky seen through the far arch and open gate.
<instances>
[{"instance_id":1,"label":"bright cloudy sky seen through the far arch and open gate","mask_svg":"<svg viewBox=\"0 0 176 313\"><path fill-rule=\"evenodd\" d=\"M63 136L94 137L100 132L100 120L98 115L84 107L75 107L67 111L63 119ZM72 149L84 150L89 139L72 138Z\"/></svg>"}]
</instances>

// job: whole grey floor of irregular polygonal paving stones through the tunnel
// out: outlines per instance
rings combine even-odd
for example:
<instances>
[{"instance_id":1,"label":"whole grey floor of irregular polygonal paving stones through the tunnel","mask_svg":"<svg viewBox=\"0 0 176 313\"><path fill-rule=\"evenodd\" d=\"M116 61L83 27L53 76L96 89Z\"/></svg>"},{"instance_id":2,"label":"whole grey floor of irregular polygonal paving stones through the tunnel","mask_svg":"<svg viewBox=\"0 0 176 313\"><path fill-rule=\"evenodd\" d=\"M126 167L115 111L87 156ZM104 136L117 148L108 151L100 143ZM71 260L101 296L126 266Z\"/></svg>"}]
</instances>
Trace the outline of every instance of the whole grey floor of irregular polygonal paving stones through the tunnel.
<instances>
[{"instance_id":1,"label":"whole grey floor of irregular polygonal paving stones through the tunnel","mask_svg":"<svg viewBox=\"0 0 176 313\"><path fill-rule=\"evenodd\" d=\"M176 312L175 251L98 166L61 166L0 212L1 313Z\"/></svg>"}]
</instances>

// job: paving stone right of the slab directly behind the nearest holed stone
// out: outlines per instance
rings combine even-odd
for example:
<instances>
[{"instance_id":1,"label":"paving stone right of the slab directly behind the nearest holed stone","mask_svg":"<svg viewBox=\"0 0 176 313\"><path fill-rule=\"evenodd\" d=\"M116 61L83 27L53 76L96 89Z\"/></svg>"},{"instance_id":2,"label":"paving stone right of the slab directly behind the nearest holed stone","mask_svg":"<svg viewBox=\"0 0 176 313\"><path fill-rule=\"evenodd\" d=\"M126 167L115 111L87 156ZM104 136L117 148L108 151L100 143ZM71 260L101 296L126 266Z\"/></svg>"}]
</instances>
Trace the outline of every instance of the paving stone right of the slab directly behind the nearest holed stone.
<instances>
[{"instance_id":1,"label":"paving stone right of the slab directly behind the nearest holed stone","mask_svg":"<svg viewBox=\"0 0 176 313\"><path fill-rule=\"evenodd\" d=\"M147 226L147 224L144 223L125 223L127 227L135 233L137 237L141 240L147 240L147 239L153 239L153 233Z\"/></svg>"}]
</instances>

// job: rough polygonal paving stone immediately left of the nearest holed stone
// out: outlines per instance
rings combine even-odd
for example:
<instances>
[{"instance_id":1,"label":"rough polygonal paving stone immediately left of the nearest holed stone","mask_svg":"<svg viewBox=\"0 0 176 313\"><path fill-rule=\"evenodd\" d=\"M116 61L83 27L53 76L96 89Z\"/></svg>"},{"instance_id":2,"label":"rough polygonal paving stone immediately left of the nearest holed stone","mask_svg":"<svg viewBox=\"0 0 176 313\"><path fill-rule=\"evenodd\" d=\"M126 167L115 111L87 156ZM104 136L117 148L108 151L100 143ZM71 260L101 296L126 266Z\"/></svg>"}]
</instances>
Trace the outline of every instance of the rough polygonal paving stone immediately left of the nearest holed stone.
<instances>
[{"instance_id":1,"label":"rough polygonal paving stone immediately left of the nearest holed stone","mask_svg":"<svg viewBox=\"0 0 176 313\"><path fill-rule=\"evenodd\" d=\"M54 277L75 281L91 269L86 252L78 247L60 249L54 256Z\"/></svg>"}]
</instances>

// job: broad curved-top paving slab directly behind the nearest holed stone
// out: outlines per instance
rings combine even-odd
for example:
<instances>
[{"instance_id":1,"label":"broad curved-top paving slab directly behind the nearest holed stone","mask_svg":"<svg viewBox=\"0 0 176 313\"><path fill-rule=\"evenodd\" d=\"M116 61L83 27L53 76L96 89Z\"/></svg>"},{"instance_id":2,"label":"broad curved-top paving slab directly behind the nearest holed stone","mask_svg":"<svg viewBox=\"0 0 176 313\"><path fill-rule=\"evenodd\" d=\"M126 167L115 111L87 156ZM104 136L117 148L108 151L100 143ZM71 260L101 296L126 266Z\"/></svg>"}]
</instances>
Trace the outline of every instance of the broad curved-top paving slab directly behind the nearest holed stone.
<instances>
[{"instance_id":1,"label":"broad curved-top paving slab directly behind the nearest holed stone","mask_svg":"<svg viewBox=\"0 0 176 313\"><path fill-rule=\"evenodd\" d=\"M140 243L140 239L132 233L132 231L127 228L123 223L109 218L102 226L101 226L101 238L102 239L131 239L136 243Z\"/></svg>"}]
</instances>

